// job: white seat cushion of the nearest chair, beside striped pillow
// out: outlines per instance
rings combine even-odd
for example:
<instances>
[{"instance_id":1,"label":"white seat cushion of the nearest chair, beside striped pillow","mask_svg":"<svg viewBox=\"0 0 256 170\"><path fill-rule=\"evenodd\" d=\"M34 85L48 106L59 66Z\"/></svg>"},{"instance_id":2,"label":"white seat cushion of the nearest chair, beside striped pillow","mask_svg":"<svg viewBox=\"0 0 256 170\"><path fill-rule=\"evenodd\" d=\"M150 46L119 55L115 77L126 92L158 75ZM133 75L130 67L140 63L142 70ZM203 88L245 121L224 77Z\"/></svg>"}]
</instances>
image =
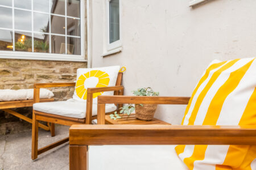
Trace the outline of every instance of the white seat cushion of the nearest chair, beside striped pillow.
<instances>
[{"instance_id":1,"label":"white seat cushion of the nearest chair, beside striped pillow","mask_svg":"<svg viewBox=\"0 0 256 170\"><path fill-rule=\"evenodd\" d=\"M89 170L187 170L174 145L89 146Z\"/></svg>"}]
</instances>

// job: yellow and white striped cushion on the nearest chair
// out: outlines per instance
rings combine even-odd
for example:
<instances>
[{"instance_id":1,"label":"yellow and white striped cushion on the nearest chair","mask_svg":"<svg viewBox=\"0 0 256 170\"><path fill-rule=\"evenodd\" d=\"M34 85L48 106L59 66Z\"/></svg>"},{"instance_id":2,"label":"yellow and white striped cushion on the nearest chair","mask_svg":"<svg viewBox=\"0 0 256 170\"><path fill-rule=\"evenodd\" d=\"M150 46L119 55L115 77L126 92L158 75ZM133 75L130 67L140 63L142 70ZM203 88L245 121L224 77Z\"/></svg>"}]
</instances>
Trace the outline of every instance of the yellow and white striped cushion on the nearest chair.
<instances>
[{"instance_id":1,"label":"yellow and white striped cushion on the nearest chair","mask_svg":"<svg viewBox=\"0 0 256 170\"><path fill-rule=\"evenodd\" d=\"M255 87L255 58L215 60L193 91L181 124L256 125ZM175 150L189 169L256 169L256 146L179 145Z\"/></svg>"}]
</instances>

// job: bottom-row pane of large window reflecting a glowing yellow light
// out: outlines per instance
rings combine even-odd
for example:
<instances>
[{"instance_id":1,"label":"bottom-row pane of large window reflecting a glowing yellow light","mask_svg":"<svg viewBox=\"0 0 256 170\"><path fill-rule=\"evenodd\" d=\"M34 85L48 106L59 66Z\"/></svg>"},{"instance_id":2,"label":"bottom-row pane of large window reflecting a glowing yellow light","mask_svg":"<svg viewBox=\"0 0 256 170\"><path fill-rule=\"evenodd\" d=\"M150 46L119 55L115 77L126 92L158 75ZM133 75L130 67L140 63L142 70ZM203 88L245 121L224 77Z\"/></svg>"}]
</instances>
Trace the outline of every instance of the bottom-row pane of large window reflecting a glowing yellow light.
<instances>
[{"instance_id":1,"label":"bottom-row pane of large window reflecting a glowing yellow light","mask_svg":"<svg viewBox=\"0 0 256 170\"><path fill-rule=\"evenodd\" d=\"M15 32L15 51L32 52L31 33Z\"/></svg>"}]
</instances>

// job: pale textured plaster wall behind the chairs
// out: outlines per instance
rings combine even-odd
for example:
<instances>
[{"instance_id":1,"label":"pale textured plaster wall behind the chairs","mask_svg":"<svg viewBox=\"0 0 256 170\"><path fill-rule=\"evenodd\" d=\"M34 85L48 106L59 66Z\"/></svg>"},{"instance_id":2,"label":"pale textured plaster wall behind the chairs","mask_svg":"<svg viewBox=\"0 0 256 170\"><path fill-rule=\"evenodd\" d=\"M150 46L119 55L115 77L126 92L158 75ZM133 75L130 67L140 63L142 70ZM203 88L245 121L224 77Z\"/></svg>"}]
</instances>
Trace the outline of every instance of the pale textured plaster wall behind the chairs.
<instances>
[{"instance_id":1,"label":"pale textured plaster wall behind the chairs","mask_svg":"<svg viewBox=\"0 0 256 170\"><path fill-rule=\"evenodd\" d=\"M105 1L92 1L92 66L126 66L125 94L150 86L162 96L190 96L213 59L256 57L256 1L122 0L121 53L102 58ZM185 107L158 108L180 124Z\"/></svg>"}]
</instances>

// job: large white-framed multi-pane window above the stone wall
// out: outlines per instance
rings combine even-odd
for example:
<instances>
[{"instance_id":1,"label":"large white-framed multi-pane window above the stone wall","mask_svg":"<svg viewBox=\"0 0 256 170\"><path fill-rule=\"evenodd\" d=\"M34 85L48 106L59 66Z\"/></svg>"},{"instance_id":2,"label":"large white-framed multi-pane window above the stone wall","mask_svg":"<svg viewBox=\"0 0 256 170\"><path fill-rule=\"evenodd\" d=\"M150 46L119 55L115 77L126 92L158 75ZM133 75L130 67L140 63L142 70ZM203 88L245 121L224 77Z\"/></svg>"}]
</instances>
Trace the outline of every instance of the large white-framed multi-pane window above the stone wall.
<instances>
[{"instance_id":1,"label":"large white-framed multi-pane window above the stone wall","mask_svg":"<svg viewBox=\"0 0 256 170\"><path fill-rule=\"evenodd\" d=\"M85 61L84 0L0 0L0 58Z\"/></svg>"}]
</instances>

